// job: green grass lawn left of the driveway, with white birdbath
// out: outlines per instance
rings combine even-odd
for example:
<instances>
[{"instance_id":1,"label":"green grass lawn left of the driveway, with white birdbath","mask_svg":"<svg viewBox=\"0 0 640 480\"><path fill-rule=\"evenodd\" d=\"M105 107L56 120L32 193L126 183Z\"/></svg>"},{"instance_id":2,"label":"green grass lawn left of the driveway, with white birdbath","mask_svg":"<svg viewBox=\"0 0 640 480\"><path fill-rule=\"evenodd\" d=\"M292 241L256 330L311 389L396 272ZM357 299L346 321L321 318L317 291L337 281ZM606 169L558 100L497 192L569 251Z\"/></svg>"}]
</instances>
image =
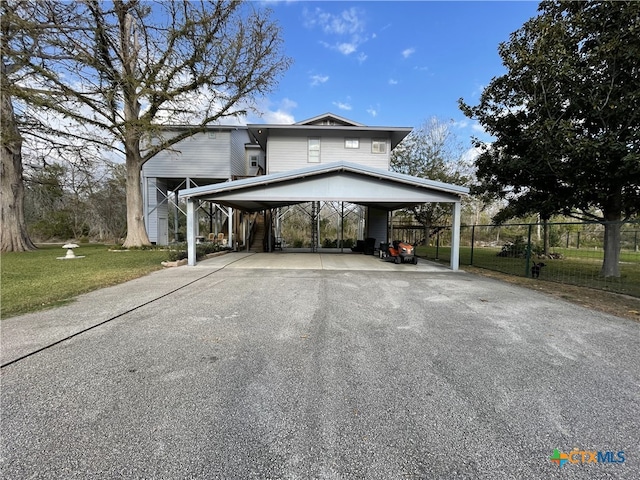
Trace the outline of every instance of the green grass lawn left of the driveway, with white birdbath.
<instances>
[{"instance_id":1,"label":"green grass lawn left of the driveway, with white birdbath","mask_svg":"<svg viewBox=\"0 0 640 480\"><path fill-rule=\"evenodd\" d=\"M142 277L160 270L167 259L166 251L110 252L107 245L83 244L75 253L85 258L58 260L66 253L61 246L0 256L1 318L62 305L82 293Z\"/></svg>"}]
</instances>

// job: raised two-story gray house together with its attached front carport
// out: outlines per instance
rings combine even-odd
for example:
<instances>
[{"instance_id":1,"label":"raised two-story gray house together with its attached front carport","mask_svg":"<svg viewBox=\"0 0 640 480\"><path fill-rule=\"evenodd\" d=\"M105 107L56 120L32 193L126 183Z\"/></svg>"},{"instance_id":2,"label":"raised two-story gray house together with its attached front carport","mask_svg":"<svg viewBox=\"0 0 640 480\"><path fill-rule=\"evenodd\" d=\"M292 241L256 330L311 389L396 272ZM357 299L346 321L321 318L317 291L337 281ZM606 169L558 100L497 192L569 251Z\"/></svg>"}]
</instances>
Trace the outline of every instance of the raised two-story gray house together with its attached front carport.
<instances>
[{"instance_id":1,"label":"raised two-story gray house together with its attached front carport","mask_svg":"<svg viewBox=\"0 0 640 480\"><path fill-rule=\"evenodd\" d=\"M391 151L410 132L407 127L366 126L333 114L292 125L211 127L145 164L150 239L167 242L165 205L169 192L177 190L187 200L190 264L195 264L195 239L202 235L198 212L203 204L210 205L211 218L226 214L231 246L246 244L247 236L246 217L234 218L234 210L273 211L304 202L365 207L364 236L377 242L389 240L389 213L408 205L450 202L459 222L461 195L468 189L389 171Z\"/></svg>"}]
</instances>

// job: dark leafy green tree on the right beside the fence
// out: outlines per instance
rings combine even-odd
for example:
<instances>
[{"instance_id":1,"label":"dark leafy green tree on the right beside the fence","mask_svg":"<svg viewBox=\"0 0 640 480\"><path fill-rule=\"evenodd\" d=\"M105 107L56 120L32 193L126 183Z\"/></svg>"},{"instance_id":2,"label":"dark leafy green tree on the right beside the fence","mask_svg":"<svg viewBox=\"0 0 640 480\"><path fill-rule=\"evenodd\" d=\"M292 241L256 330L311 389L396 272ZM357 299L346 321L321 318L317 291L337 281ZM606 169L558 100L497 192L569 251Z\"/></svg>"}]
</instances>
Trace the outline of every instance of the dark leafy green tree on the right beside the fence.
<instances>
[{"instance_id":1,"label":"dark leafy green tree on the right beside the fence","mask_svg":"<svg viewBox=\"0 0 640 480\"><path fill-rule=\"evenodd\" d=\"M499 46L507 72L462 110L480 188L507 199L498 220L556 213L605 227L604 276L620 275L620 222L640 211L640 2L544 1Z\"/></svg>"}]
</instances>

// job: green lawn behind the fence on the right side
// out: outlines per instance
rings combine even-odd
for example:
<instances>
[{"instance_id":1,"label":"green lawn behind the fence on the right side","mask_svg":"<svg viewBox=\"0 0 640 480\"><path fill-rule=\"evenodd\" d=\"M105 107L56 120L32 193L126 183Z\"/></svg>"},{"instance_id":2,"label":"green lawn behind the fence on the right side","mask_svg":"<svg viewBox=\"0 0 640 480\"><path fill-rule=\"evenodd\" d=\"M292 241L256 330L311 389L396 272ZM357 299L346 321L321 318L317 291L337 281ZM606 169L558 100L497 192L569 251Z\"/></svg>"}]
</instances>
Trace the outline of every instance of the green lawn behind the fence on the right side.
<instances>
[{"instance_id":1,"label":"green lawn behind the fence on the right side","mask_svg":"<svg viewBox=\"0 0 640 480\"><path fill-rule=\"evenodd\" d=\"M498 257L496 254L499 251L499 248L475 248L473 250L473 266L521 277L527 275L526 260L524 258ZM535 260L536 262L542 261L546 265L542 269L541 280L599 288L640 297L640 254L629 251L621 252L620 278L605 279L600 276L602 250L556 248L553 251L562 254L563 258L558 260ZM417 254L433 260L436 258L436 248L418 247ZM448 263L451 249L450 247L439 247L437 254L439 261ZM532 259L532 261L534 260ZM460 265L471 265L470 247L460 248Z\"/></svg>"}]
</instances>

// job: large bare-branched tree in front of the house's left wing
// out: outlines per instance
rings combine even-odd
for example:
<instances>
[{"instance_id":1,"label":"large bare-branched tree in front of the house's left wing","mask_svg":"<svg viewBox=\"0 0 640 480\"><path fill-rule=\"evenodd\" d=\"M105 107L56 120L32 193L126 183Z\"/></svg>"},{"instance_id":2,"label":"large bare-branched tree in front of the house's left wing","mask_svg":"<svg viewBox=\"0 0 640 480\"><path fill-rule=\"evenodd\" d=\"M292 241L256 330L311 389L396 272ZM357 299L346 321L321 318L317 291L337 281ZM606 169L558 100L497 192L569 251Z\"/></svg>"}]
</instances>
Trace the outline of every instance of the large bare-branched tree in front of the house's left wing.
<instances>
[{"instance_id":1,"label":"large bare-branched tree in front of the house's left wing","mask_svg":"<svg viewBox=\"0 0 640 480\"><path fill-rule=\"evenodd\" d=\"M26 2L40 8L43 2ZM48 2L44 2L48 3ZM53 2L55 3L55 2ZM10 2L14 13L25 2ZM75 2L22 72L18 99L56 112L73 135L120 151L127 167L125 246L149 243L141 168L207 124L246 113L290 60L266 10L235 0ZM20 8L18 8L20 7ZM53 27L52 27L53 28ZM191 128L167 138L162 125Z\"/></svg>"}]
</instances>

